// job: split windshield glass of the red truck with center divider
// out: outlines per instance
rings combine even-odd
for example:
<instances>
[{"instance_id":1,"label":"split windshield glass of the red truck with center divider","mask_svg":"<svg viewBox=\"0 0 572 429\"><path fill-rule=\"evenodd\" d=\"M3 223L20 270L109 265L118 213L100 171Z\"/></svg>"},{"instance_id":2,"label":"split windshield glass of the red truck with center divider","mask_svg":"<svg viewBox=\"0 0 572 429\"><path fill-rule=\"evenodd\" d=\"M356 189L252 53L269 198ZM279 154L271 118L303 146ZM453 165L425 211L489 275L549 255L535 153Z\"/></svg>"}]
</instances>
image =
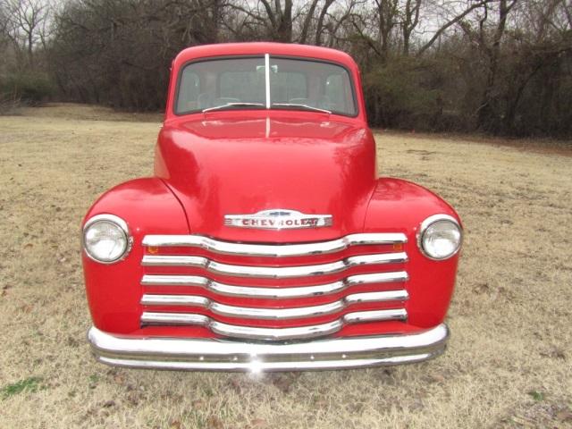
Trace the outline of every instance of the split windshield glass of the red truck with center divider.
<instances>
[{"instance_id":1,"label":"split windshield glass of the red truck with center divider","mask_svg":"<svg viewBox=\"0 0 572 429\"><path fill-rule=\"evenodd\" d=\"M175 114L267 108L357 114L349 72L333 63L261 55L199 61L181 71Z\"/></svg>"}]
</instances>

